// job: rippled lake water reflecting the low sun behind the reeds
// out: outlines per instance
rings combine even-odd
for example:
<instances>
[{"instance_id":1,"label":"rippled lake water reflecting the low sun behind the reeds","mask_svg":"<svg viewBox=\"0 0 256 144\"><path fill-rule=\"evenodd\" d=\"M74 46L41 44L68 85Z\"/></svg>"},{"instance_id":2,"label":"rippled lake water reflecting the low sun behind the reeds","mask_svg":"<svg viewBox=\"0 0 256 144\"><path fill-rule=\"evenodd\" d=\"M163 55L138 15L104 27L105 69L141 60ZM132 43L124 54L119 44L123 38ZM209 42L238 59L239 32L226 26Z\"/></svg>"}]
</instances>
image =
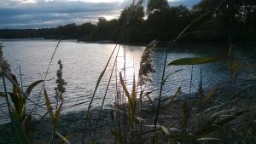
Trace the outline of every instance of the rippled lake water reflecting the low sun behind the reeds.
<instances>
[{"instance_id":1,"label":"rippled lake water reflecting the low sun behind the reeds","mask_svg":"<svg viewBox=\"0 0 256 144\"><path fill-rule=\"evenodd\" d=\"M51 55L55 50L57 41L55 40L3 40L3 55L11 65L12 72L20 82L19 66L21 68L21 76L24 87L32 82L42 79L49 65ZM60 43L59 48L56 50L52 64L49 66L49 74L46 78L46 89L54 101L56 86L56 71L58 69L57 61L61 60L63 63L63 78L67 82L66 93L64 95L64 109L63 112L73 112L84 110L91 95L96 87L96 81L99 78L104 66L108 62L116 44L110 43L77 43L72 40L65 40ZM143 46L125 46L126 56L124 60L123 46L119 49L117 57L117 69L113 72L113 78L108 90L106 105L112 104L116 92L116 75L119 72L126 71L126 84L131 88L132 78L135 75L137 79L138 70L140 67L140 60L145 47ZM207 46L205 46L207 49ZM118 48L117 48L118 49ZM117 49L114 52L113 58L109 62L107 71L102 78L102 83L96 92L96 100L93 102L94 107L100 106L102 96L108 84L114 57L117 54ZM154 90L151 97L155 97L160 89L160 78L164 64L164 51L155 51L152 56L155 72L151 75L152 83L145 84L145 89ZM184 57L197 57L212 54L199 54L191 51L173 51L169 53L168 61L177 60ZM163 96L173 95L179 86L182 87L184 94L189 94L190 81L191 81L191 66L167 66L166 75L181 69L182 71L173 74L164 86ZM229 82L229 71L225 62L218 62L206 64L201 66L194 66L193 78L191 83L191 93L196 93L198 84L201 79L200 71L202 71L202 84L204 89L212 89L213 87L226 84ZM247 68L246 71L239 73L239 80L237 84L255 84L252 78L256 78L254 68ZM3 91L3 83L1 81L1 91ZM120 85L118 85L120 87ZM41 86L38 86L32 91L32 101L38 101ZM255 88L255 87L254 87ZM41 97L39 104L44 106L44 99ZM6 122L8 114L6 113L6 104L3 98L0 103L0 123ZM31 109L33 105L28 104ZM44 110L38 109L38 115L43 115Z\"/></svg>"}]
</instances>

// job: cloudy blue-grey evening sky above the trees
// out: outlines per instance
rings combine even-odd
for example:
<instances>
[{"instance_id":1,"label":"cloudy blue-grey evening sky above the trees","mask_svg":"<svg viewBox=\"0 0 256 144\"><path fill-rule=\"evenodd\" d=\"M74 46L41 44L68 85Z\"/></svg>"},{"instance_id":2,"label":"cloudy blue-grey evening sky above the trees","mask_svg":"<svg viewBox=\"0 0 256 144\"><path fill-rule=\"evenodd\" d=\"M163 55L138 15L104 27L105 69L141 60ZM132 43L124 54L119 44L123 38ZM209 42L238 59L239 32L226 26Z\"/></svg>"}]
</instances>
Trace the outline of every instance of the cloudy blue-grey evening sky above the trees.
<instances>
[{"instance_id":1,"label":"cloudy blue-grey evening sky above the trees","mask_svg":"<svg viewBox=\"0 0 256 144\"><path fill-rule=\"evenodd\" d=\"M168 0L191 7L200 0ZM132 0L0 0L0 29L43 28L118 18ZM147 2L145 2L147 3Z\"/></svg>"}]
</instances>

